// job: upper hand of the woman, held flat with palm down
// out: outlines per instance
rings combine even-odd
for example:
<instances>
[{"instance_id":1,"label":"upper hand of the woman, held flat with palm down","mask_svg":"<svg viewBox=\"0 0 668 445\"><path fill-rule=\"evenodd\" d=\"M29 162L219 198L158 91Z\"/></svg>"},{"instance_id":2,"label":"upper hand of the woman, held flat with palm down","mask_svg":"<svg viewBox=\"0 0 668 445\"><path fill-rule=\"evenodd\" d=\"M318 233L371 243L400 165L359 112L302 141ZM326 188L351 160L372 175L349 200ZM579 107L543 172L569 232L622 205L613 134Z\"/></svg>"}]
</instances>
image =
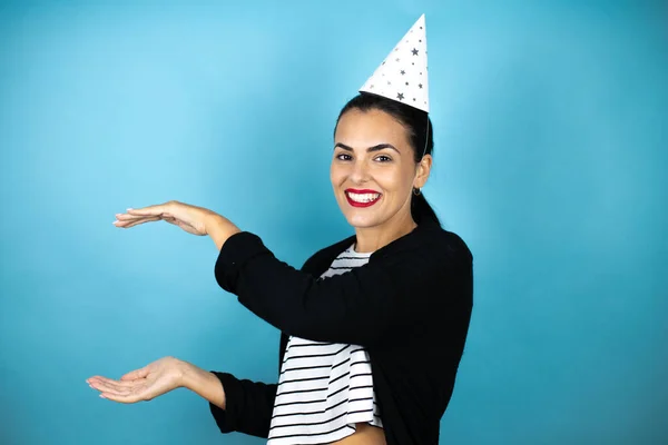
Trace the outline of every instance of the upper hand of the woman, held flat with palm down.
<instances>
[{"instance_id":1,"label":"upper hand of the woman, held flat with palm down","mask_svg":"<svg viewBox=\"0 0 668 445\"><path fill-rule=\"evenodd\" d=\"M157 206L127 209L125 214L116 214L114 225L120 228L130 228L145 222L164 220L180 227L188 234L205 236L207 220L217 214L203 207L190 206L179 201L169 201Z\"/></svg>"}]
</instances>

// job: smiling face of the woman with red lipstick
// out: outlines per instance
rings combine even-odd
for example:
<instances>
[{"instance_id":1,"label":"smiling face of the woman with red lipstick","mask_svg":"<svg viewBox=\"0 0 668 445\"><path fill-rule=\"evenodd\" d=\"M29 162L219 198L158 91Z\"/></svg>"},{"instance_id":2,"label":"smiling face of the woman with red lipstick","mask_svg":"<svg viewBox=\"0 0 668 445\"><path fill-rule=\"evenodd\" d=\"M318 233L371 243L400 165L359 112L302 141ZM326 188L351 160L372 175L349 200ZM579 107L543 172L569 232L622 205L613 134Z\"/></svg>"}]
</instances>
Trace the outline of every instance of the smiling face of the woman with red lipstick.
<instances>
[{"instance_id":1,"label":"smiling face of the woman with red lipstick","mask_svg":"<svg viewBox=\"0 0 668 445\"><path fill-rule=\"evenodd\" d=\"M369 228L410 218L413 186L422 186L416 172L406 130L392 116L352 109L341 117L330 177L350 225Z\"/></svg>"}]
</instances>

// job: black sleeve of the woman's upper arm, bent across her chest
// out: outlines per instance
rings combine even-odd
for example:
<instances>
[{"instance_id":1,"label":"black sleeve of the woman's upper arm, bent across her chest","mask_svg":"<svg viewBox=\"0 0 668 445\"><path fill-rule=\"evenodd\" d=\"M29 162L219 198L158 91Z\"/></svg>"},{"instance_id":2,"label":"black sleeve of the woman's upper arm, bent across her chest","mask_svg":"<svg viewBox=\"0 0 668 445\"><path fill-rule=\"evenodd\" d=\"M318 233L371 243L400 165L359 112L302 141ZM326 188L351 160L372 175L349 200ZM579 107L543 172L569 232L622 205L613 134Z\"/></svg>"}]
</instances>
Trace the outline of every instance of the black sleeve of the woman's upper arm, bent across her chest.
<instances>
[{"instance_id":1,"label":"black sleeve of the woman's upper arm, bent across her chest","mask_svg":"<svg viewBox=\"0 0 668 445\"><path fill-rule=\"evenodd\" d=\"M318 280L275 258L259 237L239 233L223 245L215 275L222 288L288 335L369 347L420 324L435 294L448 297L451 250L406 248Z\"/></svg>"}]
</instances>

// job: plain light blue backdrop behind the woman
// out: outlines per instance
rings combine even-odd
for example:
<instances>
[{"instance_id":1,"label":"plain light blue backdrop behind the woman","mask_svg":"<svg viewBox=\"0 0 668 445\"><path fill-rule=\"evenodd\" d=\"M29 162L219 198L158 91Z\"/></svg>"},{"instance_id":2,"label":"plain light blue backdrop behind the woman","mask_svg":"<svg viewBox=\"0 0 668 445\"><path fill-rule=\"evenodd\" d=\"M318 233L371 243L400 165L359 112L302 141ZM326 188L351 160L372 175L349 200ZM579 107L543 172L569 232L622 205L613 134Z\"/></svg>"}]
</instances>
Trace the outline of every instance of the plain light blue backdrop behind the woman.
<instances>
[{"instance_id":1,"label":"plain light blue backdrop behind the woman","mask_svg":"<svg viewBox=\"0 0 668 445\"><path fill-rule=\"evenodd\" d=\"M350 235L334 121L423 12L425 195L475 256L441 443L668 442L665 3L115 3L0 7L0 443L262 443L186 389L85 383L165 355L276 376L214 244L114 214L209 207L295 266Z\"/></svg>"}]
</instances>

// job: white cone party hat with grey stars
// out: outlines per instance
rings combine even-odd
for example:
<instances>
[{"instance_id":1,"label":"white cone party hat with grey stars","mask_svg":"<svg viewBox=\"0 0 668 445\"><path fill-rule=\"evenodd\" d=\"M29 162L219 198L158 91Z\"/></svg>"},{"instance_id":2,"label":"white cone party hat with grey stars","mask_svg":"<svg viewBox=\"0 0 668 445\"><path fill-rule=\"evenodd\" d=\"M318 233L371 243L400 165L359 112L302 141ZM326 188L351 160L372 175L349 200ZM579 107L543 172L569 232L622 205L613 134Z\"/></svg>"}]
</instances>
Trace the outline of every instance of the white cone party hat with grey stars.
<instances>
[{"instance_id":1,"label":"white cone party hat with grey stars","mask_svg":"<svg viewBox=\"0 0 668 445\"><path fill-rule=\"evenodd\" d=\"M383 96L429 112L424 14L399 41L360 91Z\"/></svg>"}]
</instances>

